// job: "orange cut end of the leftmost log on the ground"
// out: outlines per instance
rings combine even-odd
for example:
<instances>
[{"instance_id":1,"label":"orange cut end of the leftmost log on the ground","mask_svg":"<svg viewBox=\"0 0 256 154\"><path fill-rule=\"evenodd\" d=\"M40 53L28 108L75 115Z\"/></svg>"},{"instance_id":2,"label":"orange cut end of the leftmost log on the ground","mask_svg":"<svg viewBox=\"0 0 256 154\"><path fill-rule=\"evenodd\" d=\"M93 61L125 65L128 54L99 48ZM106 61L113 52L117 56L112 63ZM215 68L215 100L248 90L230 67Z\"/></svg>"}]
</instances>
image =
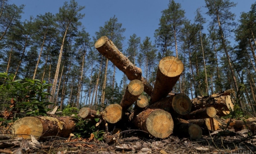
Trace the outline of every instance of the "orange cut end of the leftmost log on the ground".
<instances>
[{"instance_id":1,"label":"orange cut end of the leftmost log on the ground","mask_svg":"<svg viewBox=\"0 0 256 154\"><path fill-rule=\"evenodd\" d=\"M23 134L18 135L23 139L30 139L30 135L38 139L42 135L43 125L37 117L23 117L13 123L11 126L12 133Z\"/></svg>"}]
</instances>

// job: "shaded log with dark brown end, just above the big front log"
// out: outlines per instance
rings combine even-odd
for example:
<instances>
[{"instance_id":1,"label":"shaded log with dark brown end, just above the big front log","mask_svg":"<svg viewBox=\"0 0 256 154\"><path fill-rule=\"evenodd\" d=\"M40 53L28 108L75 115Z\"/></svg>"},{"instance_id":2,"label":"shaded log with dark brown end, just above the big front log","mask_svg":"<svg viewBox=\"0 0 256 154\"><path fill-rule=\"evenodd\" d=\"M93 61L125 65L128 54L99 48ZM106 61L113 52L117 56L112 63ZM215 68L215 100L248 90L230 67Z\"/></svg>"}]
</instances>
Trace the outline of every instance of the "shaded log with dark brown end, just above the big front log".
<instances>
[{"instance_id":1,"label":"shaded log with dark brown end, just above the big front log","mask_svg":"<svg viewBox=\"0 0 256 154\"><path fill-rule=\"evenodd\" d=\"M189 114L191 110L191 101L185 94L176 94L166 97L149 106L151 109L163 109L173 114Z\"/></svg>"}]
</instances>

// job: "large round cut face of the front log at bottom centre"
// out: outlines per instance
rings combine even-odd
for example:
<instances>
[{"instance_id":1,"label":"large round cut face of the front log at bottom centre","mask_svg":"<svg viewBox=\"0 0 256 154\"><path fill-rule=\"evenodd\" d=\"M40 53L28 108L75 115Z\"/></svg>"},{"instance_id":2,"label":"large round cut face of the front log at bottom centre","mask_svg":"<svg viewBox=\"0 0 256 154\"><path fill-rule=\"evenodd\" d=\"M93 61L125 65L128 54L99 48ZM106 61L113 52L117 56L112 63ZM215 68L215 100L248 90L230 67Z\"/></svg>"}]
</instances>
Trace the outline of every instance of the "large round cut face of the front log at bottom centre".
<instances>
[{"instance_id":1,"label":"large round cut face of the front log at bottom centre","mask_svg":"<svg viewBox=\"0 0 256 154\"><path fill-rule=\"evenodd\" d=\"M158 138L166 138L173 133L173 119L171 114L164 110L155 110L146 122L148 132Z\"/></svg>"}]
</instances>

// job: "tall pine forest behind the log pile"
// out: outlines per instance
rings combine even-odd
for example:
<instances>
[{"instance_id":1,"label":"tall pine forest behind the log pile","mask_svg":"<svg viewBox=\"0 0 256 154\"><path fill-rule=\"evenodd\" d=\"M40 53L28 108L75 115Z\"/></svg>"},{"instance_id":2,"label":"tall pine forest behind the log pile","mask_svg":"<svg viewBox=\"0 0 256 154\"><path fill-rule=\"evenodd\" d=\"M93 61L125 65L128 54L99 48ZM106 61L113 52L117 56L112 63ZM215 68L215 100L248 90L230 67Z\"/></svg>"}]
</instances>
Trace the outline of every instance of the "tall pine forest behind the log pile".
<instances>
[{"instance_id":1,"label":"tall pine forest behind the log pile","mask_svg":"<svg viewBox=\"0 0 256 154\"><path fill-rule=\"evenodd\" d=\"M189 21L181 4L170 0L154 38L134 33L124 48L125 28L116 16L90 35L80 22L85 7L75 0L64 2L55 15L48 12L25 21L24 5L0 0L0 70L15 74L13 81L30 78L53 84L49 99L60 110L68 105L100 109L120 103L129 81L122 74L117 82L116 67L94 48L96 40L107 36L142 68L152 86L159 60L174 55L184 63L184 73L173 93L196 98L233 89L241 110L255 115L256 3L241 12L238 23L230 11L236 4L230 0L205 0L204 7L205 14L198 8L194 21ZM207 29L206 15L211 17Z\"/></svg>"}]
</instances>

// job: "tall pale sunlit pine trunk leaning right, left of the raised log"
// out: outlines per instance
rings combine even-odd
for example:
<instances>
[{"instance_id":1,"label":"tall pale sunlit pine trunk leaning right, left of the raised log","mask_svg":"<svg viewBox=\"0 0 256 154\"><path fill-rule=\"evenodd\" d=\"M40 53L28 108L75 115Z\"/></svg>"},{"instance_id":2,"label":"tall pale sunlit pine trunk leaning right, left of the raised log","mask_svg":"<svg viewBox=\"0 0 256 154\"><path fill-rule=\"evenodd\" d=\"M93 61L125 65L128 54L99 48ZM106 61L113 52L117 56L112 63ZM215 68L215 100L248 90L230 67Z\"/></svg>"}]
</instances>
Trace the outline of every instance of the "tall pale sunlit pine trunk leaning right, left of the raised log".
<instances>
[{"instance_id":1,"label":"tall pale sunlit pine trunk leaning right, left of the raised log","mask_svg":"<svg viewBox=\"0 0 256 154\"><path fill-rule=\"evenodd\" d=\"M62 39L62 44L61 44L61 47L60 47L60 55L59 55L59 59L58 59L57 67L56 67L56 72L55 72L55 75L54 75L52 91L51 91L51 95L52 95L52 97L50 99L51 102L53 102L53 100L55 98L57 80L58 80L58 77L59 77L59 70L60 70L60 62L61 62L62 51L63 51L63 48L64 48L64 41L65 41L67 32L68 32L68 26L66 27L66 30L65 30L65 33L64 33L64 36L63 36L63 39Z\"/></svg>"}]
</instances>

